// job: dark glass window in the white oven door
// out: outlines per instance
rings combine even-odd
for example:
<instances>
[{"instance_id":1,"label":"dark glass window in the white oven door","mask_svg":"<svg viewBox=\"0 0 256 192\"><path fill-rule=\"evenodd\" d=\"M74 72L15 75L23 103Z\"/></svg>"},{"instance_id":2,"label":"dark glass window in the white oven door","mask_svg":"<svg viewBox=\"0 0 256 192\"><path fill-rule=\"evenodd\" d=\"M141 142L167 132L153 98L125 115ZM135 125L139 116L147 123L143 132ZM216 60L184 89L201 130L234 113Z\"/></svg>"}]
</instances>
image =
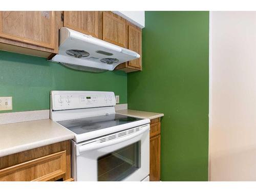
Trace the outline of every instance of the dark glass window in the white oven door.
<instances>
[{"instance_id":1,"label":"dark glass window in the white oven door","mask_svg":"<svg viewBox=\"0 0 256 192\"><path fill-rule=\"evenodd\" d=\"M140 168L140 141L98 158L98 181L121 181Z\"/></svg>"}]
</instances>

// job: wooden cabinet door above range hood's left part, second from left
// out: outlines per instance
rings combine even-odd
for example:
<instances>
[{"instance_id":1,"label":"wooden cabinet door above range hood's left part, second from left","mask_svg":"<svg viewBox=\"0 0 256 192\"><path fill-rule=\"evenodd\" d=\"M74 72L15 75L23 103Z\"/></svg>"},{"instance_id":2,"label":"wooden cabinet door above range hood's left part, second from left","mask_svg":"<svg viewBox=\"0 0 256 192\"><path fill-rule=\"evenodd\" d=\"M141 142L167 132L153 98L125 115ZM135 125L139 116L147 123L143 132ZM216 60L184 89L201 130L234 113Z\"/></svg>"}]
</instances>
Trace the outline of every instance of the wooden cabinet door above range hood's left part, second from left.
<instances>
[{"instance_id":1,"label":"wooden cabinet door above range hood's left part, second from left","mask_svg":"<svg viewBox=\"0 0 256 192\"><path fill-rule=\"evenodd\" d=\"M64 27L99 38L98 11L64 11Z\"/></svg>"}]
</instances>

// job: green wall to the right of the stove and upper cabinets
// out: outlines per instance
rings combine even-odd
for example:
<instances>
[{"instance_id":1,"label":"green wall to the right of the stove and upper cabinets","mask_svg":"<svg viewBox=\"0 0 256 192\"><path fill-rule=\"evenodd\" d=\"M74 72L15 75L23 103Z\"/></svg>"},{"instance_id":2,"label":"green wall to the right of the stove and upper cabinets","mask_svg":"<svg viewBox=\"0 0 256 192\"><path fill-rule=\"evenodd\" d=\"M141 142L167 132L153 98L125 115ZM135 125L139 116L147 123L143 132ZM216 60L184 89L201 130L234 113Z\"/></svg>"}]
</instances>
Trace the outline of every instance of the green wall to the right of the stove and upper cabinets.
<instances>
[{"instance_id":1,"label":"green wall to the right of the stove and upper cabinets","mask_svg":"<svg viewBox=\"0 0 256 192\"><path fill-rule=\"evenodd\" d=\"M209 12L145 12L143 71L127 75L130 109L164 113L162 181L208 175Z\"/></svg>"}]
</instances>

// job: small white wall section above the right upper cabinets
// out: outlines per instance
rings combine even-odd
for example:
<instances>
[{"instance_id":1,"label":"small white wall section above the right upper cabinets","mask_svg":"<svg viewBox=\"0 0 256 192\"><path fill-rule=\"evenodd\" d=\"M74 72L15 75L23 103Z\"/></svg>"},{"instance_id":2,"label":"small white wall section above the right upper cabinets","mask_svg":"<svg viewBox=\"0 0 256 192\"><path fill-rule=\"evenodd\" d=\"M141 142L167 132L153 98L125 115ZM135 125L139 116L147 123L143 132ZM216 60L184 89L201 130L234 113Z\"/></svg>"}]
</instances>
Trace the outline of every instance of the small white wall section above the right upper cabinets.
<instances>
[{"instance_id":1,"label":"small white wall section above the right upper cabinets","mask_svg":"<svg viewBox=\"0 0 256 192\"><path fill-rule=\"evenodd\" d=\"M145 27L145 11L113 11L117 15L129 20L134 25Z\"/></svg>"}]
</instances>

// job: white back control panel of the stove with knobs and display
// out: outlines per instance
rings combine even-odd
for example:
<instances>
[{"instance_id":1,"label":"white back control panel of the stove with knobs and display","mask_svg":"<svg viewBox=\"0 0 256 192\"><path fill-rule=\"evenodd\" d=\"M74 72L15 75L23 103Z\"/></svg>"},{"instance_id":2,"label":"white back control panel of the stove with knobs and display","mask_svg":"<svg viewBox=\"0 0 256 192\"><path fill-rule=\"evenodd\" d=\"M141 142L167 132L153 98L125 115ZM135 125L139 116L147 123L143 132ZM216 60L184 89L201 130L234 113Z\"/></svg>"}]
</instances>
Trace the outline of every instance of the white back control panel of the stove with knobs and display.
<instances>
[{"instance_id":1,"label":"white back control panel of the stove with knobs and display","mask_svg":"<svg viewBox=\"0 0 256 192\"><path fill-rule=\"evenodd\" d=\"M96 108L116 104L114 92L51 91L50 97L53 110Z\"/></svg>"}]
</instances>

